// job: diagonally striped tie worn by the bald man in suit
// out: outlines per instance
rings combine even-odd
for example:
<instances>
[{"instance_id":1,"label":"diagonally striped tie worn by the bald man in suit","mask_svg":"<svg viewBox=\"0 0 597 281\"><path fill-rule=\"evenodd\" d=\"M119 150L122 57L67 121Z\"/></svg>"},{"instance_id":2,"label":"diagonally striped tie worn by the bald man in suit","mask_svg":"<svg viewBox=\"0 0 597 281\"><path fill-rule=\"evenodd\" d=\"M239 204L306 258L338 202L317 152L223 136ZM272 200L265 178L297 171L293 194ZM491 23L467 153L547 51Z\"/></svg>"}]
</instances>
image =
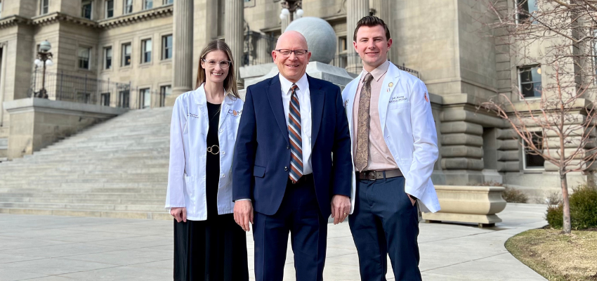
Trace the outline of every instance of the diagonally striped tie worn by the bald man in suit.
<instances>
[{"instance_id":1,"label":"diagonally striped tie worn by the bald man in suit","mask_svg":"<svg viewBox=\"0 0 597 281\"><path fill-rule=\"evenodd\" d=\"M301 107L296 96L296 84L292 84L288 110L288 136L290 138L290 173L288 177L296 183L303 176L303 138L301 138Z\"/></svg>"}]
</instances>

